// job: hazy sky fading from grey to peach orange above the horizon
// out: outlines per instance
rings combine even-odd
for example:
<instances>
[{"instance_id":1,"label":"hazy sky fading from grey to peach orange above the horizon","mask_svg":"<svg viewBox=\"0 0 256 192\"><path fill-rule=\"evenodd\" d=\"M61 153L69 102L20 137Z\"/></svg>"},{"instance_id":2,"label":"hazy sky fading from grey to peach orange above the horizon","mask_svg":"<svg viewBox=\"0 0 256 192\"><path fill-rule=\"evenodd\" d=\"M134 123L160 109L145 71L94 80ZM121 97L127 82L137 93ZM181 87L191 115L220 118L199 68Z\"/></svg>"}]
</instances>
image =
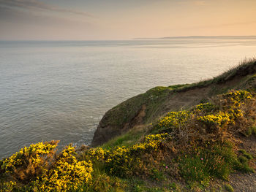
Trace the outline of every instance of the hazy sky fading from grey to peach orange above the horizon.
<instances>
[{"instance_id":1,"label":"hazy sky fading from grey to peach orange above the horizon","mask_svg":"<svg viewBox=\"0 0 256 192\"><path fill-rule=\"evenodd\" d=\"M255 0L0 0L0 39L256 35L255 12Z\"/></svg>"}]
</instances>

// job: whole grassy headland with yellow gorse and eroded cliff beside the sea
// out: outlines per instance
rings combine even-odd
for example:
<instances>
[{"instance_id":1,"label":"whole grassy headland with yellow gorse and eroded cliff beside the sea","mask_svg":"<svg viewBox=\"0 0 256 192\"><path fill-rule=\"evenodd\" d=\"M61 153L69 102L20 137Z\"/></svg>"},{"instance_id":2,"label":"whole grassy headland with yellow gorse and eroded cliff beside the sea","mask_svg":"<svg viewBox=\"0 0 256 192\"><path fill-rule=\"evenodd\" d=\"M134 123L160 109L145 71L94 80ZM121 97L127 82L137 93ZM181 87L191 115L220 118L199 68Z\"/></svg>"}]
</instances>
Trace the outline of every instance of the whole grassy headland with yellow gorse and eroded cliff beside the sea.
<instances>
[{"instance_id":1,"label":"whole grassy headland with yellow gorse and eroded cliff beside the sea","mask_svg":"<svg viewBox=\"0 0 256 192\"><path fill-rule=\"evenodd\" d=\"M253 191L255 77L252 60L153 88L106 113L99 126L117 137L98 147L40 142L2 159L0 191Z\"/></svg>"}]
</instances>

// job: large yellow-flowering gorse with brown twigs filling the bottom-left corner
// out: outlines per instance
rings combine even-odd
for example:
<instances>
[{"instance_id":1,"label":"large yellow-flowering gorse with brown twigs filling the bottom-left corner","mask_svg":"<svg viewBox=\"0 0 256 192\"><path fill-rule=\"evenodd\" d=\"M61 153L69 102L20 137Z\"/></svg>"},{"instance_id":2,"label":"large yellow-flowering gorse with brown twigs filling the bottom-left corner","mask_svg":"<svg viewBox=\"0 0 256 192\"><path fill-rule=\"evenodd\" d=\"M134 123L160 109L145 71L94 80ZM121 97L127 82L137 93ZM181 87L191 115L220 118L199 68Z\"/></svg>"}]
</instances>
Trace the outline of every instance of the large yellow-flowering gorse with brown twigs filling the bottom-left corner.
<instances>
[{"instance_id":1,"label":"large yellow-flowering gorse with brown twigs filling the bottom-left corner","mask_svg":"<svg viewBox=\"0 0 256 192\"><path fill-rule=\"evenodd\" d=\"M1 191L75 191L89 185L91 162L78 161L70 145L56 155L57 143L39 142L2 161L2 175L22 185L11 180L2 184Z\"/></svg>"}]
</instances>

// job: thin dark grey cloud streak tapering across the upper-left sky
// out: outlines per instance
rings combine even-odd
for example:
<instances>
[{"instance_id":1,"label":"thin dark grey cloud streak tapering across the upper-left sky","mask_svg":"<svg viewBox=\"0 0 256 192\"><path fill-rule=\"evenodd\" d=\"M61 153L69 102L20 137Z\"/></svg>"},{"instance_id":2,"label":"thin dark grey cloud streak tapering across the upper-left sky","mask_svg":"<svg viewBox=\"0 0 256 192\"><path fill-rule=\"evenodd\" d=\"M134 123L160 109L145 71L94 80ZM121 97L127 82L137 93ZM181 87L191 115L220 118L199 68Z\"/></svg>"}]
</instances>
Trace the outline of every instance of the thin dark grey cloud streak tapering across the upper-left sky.
<instances>
[{"instance_id":1,"label":"thin dark grey cloud streak tapering across the upper-left sky","mask_svg":"<svg viewBox=\"0 0 256 192\"><path fill-rule=\"evenodd\" d=\"M1 6L5 7L16 7L16 8L25 8L25 9L42 9L49 10L52 12L69 12L75 15L83 15L86 17L92 17L87 12L80 12L74 9L64 9L62 7L52 6L50 4L45 4L38 0L0 0Z\"/></svg>"}]
</instances>

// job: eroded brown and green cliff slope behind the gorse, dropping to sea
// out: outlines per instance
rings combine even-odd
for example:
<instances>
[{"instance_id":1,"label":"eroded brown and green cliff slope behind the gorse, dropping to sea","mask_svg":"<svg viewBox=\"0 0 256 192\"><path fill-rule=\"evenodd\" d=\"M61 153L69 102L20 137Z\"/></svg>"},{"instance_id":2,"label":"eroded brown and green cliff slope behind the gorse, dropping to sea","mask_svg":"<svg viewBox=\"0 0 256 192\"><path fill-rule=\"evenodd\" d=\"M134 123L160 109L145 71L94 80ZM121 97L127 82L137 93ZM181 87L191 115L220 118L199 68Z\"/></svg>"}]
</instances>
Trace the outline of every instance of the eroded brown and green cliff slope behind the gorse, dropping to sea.
<instances>
[{"instance_id":1,"label":"eroded brown and green cliff slope behind the gorse, dropping to sea","mask_svg":"<svg viewBox=\"0 0 256 192\"><path fill-rule=\"evenodd\" d=\"M156 87L132 97L106 112L91 145L102 145L134 126L153 123L169 111L189 109L209 97L235 90L256 89L256 61L245 61L211 80L187 85Z\"/></svg>"}]
</instances>

